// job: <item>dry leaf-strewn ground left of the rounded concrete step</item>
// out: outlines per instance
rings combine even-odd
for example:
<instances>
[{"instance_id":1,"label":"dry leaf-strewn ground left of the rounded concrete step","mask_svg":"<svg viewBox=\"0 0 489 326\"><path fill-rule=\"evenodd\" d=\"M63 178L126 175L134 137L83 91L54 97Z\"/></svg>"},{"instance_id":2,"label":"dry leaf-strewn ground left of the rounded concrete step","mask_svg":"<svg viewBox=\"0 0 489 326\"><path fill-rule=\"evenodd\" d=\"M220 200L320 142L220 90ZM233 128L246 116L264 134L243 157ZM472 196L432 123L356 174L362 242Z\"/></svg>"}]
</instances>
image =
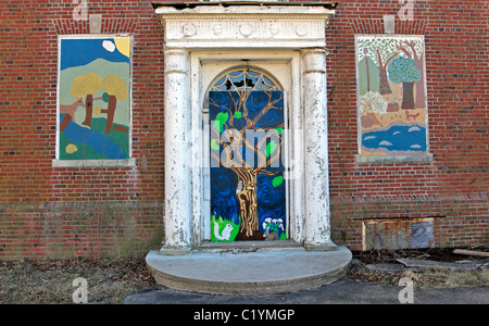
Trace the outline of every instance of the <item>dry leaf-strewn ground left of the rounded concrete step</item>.
<instances>
[{"instance_id":1,"label":"dry leaf-strewn ground left of the rounded concrete step","mask_svg":"<svg viewBox=\"0 0 489 326\"><path fill-rule=\"evenodd\" d=\"M134 292L158 288L145 255L120 259L0 262L0 303L73 303L77 277L87 279L90 303L122 303Z\"/></svg>"}]
</instances>

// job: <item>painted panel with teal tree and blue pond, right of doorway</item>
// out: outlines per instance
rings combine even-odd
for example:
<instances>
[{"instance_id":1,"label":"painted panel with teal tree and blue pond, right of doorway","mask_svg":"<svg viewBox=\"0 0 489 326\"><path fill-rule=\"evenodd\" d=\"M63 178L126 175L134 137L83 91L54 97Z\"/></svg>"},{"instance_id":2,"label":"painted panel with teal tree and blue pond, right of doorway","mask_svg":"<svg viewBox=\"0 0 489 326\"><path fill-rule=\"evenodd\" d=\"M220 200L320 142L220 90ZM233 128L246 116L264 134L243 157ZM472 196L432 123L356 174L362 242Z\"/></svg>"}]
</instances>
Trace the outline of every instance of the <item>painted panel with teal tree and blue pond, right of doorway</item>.
<instances>
[{"instance_id":1,"label":"painted panel with teal tree and blue pond, right of doorway","mask_svg":"<svg viewBox=\"0 0 489 326\"><path fill-rule=\"evenodd\" d=\"M355 37L361 155L428 152L423 36Z\"/></svg>"}]
</instances>

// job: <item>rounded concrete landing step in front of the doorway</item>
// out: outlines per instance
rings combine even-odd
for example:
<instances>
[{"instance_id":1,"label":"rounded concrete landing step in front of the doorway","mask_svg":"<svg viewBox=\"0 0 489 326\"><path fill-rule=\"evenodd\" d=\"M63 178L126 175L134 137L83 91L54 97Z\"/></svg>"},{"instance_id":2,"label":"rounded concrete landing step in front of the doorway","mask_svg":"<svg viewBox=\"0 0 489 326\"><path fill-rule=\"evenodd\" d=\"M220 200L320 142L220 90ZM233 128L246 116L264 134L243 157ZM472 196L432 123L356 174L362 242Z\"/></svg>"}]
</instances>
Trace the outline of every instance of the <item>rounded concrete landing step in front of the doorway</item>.
<instances>
[{"instance_id":1,"label":"rounded concrete landing step in front of the doorway","mask_svg":"<svg viewBox=\"0 0 489 326\"><path fill-rule=\"evenodd\" d=\"M151 251L146 262L158 284L211 294L269 294L306 290L341 278L351 252L305 251L303 248L254 252L193 251L165 256Z\"/></svg>"}]
</instances>

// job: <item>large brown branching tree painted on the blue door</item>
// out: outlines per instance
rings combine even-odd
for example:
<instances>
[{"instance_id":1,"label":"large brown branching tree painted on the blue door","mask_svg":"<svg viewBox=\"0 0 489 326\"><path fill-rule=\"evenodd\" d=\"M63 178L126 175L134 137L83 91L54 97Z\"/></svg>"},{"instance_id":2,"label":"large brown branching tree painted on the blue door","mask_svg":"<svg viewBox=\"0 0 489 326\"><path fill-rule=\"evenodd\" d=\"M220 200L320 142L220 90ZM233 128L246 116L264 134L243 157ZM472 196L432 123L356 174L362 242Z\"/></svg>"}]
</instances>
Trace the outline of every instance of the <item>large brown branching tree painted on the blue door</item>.
<instances>
[{"instance_id":1,"label":"large brown branching tree painted on the blue door","mask_svg":"<svg viewBox=\"0 0 489 326\"><path fill-rule=\"evenodd\" d=\"M236 240L263 239L258 176L278 176L284 130L281 91L211 91L211 162L237 176L240 227Z\"/></svg>"}]
</instances>

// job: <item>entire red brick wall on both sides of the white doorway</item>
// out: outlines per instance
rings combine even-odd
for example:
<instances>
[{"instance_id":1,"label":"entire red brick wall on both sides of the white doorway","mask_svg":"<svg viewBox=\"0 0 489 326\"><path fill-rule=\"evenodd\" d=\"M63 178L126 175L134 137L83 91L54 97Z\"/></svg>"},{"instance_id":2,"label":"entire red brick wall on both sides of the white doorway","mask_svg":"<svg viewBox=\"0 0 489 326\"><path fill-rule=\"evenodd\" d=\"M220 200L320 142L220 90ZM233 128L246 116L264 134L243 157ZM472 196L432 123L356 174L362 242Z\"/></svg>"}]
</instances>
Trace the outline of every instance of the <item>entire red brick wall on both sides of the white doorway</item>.
<instances>
[{"instance_id":1,"label":"entire red brick wall on both sides of the white doorway","mask_svg":"<svg viewBox=\"0 0 489 326\"><path fill-rule=\"evenodd\" d=\"M136 167L53 168L58 35L84 34L71 0L0 1L0 259L120 254L163 239L163 29L151 1L89 2L102 33L134 33ZM75 4L76 5L76 4ZM432 162L355 164L354 35L399 1L339 1L327 29L333 237L362 220L435 216L436 246L488 236L488 3L416 0L397 33L426 37Z\"/></svg>"}]
</instances>

